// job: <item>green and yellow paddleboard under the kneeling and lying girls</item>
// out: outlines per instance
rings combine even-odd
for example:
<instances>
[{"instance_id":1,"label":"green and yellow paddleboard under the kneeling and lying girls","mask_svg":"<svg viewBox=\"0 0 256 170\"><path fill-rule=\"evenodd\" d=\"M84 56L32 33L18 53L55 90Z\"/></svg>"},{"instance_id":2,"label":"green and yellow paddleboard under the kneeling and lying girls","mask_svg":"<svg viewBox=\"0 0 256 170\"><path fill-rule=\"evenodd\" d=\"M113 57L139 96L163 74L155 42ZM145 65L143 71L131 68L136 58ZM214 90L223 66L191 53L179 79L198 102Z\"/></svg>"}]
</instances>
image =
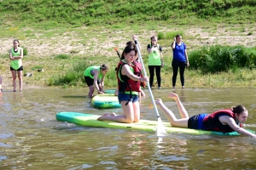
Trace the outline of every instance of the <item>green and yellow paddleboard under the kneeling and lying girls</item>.
<instances>
[{"instance_id":1,"label":"green and yellow paddleboard under the kneeling and lying girls","mask_svg":"<svg viewBox=\"0 0 256 170\"><path fill-rule=\"evenodd\" d=\"M157 121L140 120L133 123L121 123L121 122L107 122L97 121L99 115L79 113L79 112L59 112L56 114L56 120L60 122L70 122L85 127L107 127L107 128L119 128L119 129L133 129L148 132L156 132ZM167 133L189 133L189 134L213 134L223 136L237 136L240 133L222 133L215 131L204 131L182 127L172 127L169 122L163 122L166 127ZM248 130L250 131L250 130ZM253 131L250 131L253 133Z\"/></svg>"}]
</instances>

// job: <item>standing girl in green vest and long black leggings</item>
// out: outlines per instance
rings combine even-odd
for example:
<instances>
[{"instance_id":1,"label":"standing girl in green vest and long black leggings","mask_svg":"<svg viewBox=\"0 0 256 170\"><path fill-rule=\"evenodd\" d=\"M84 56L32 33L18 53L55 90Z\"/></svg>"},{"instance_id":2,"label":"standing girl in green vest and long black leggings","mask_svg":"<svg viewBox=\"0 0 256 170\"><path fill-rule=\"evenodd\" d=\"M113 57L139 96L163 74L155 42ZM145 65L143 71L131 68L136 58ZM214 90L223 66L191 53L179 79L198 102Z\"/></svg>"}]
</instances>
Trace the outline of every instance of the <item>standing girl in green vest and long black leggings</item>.
<instances>
[{"instance_id":1,"label":"standing girl in green vest and long black leggings","mask_svg":"<svg viewBox=\"0 0 256 170\"><path fill-rule=\"evenodd\" d=\"M154 70L157 78L158 88L161 88L161 67L164 67L164 59L162 54L162 48L157 43L157 37L153 36L150 38L151 43L148 44L148 70L149 70L149 85L153 88L154 83Z\"/></svg>"}]
</instances>

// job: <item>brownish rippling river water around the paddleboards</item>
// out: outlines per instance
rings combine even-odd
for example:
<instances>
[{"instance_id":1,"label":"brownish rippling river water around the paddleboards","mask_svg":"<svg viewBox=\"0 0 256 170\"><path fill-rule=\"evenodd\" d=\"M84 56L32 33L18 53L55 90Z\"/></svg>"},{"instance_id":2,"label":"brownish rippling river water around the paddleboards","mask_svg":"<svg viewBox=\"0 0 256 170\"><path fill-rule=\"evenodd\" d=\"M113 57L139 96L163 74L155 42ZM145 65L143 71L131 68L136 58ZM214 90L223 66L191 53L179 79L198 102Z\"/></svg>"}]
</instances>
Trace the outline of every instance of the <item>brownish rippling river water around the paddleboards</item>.
<instances>
[{"instance_id":1,"label":"brownish rippling river water around the paddleboards","mask_svg":"<svg viewBox=\"0 0 256 170\"><path fill-rule=\"evenodd\" d=\"M166 98L172 89L154 89L178 116L177 105ZM245 128L256 130L255 88L177 89L189 116L245 105ZM121 109L97 110L85 98L87 88L6 90L0 96L0 169L255 169L256 139L156 133L81 127L57 122L55 114L75 111L102 115ZM148 90L145 93L149 96ZM142 119L157 120L141 101ZM163 122L167 122L160 112Z\"/></svg>"}]
</instances>

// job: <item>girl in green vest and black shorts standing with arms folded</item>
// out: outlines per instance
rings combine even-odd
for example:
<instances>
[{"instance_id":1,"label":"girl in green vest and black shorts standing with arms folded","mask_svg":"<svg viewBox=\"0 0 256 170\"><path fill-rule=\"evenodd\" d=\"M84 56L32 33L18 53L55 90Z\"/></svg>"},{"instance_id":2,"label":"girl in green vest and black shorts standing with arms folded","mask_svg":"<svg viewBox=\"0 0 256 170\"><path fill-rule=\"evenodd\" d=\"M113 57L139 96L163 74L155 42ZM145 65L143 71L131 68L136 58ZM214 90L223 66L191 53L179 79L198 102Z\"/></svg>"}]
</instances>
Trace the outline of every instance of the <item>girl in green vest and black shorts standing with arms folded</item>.
<instances>
[{"instance_id":1,"label":"girl in green vest and black shorts standing with arms folded","mask_svg":"<svg viewBox=\"0 0 256 170\"><path fill-rule=\"evenodd\" d=\"M16 92L16 75L18 73L20 92L22 91L23 48L20 48L19 40L14 40L14 47L9 51L10 71L13 77L14 92Z\"/></svg>"}]
</instances>

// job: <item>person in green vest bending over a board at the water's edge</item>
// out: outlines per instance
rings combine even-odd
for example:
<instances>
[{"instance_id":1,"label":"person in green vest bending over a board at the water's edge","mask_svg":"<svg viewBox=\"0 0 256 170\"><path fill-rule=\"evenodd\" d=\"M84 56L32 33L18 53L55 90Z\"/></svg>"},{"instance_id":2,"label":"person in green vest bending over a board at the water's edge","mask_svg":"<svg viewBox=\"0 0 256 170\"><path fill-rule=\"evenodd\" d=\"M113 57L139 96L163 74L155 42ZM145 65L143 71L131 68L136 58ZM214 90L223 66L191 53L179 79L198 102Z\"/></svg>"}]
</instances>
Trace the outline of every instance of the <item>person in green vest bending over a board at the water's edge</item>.
<instances>
[{"instance_id":1,"label":"person in green vest bending over a board at the water's edge","mask_svg":"<svg viewBox=\"0 0 256 170\"><path fill-rule=\"evenodd\" d=\"M104 94L104 79L107 72L108 65L90 66L84 71L84 79L89 87L88 96L90 98L93 97L95 88L98 94ZM102 78L102 81L100 81L100 78Z\"/></svg>"}]
</instances>

